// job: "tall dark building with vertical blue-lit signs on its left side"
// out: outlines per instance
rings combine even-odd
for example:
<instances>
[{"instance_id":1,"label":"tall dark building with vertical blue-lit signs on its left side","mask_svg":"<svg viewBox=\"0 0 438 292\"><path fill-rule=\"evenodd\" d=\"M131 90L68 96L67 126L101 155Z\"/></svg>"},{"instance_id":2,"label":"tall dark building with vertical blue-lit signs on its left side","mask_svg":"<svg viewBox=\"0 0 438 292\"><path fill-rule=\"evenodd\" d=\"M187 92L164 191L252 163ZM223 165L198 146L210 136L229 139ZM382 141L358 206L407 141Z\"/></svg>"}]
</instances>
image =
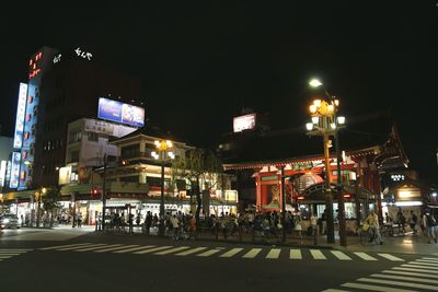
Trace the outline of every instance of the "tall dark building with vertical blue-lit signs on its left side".
<instances>
[{"instance_id":1,"label":"tall dark building with vertical blue-lit signs on its left side","mask_svg":"<svg viewBox=\"0 0 438 292\"><path fill-rule=\"evenodd\" d=\"M70 121L95 117L100 97L140 104L140 81L108 70L81 47L43 47L30 59L28 83L21 83L14 148L20 152L18 189L56 185L66 160Z\"/></svg>"}]
</instances>

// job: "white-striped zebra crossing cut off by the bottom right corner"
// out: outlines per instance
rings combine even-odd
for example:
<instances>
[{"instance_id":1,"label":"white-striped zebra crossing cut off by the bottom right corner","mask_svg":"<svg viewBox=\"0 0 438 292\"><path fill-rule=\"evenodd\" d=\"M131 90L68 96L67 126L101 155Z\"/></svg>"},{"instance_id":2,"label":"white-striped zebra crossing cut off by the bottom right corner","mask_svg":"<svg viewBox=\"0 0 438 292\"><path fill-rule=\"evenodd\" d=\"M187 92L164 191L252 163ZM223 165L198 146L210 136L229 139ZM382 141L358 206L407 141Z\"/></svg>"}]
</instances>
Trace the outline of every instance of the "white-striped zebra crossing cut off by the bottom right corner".
<instances>
[{"instance_id":1,"label":"white-striped zebra crossing cut off by the bottom right corner","mask_svg":"<svg viewBox=\"0 0 438 292\"><path fill-rule=\"evenodd\" d=\"M348 291L438 291L438 257L423 257L323 292Z\"/></svg>"}]
</instances>

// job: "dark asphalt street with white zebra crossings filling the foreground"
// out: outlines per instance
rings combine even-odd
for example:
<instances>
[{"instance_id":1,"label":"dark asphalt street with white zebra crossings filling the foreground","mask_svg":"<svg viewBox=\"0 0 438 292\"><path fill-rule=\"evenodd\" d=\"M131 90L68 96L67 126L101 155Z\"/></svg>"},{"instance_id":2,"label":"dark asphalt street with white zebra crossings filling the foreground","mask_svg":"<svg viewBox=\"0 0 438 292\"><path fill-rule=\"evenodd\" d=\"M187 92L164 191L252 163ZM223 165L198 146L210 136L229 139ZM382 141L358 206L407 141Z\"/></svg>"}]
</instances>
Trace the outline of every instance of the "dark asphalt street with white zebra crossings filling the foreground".
<instances>
[{"instance_id":1,"label":"dark asphalt street with white zebra crossings filling the foreground","mask_svg":"<svg viewBox=\"0 0 438 292\"><path fill-rule=\"evenodd\" d=\"M2 288L364 291L378 285L385 287L384 291L436 290L437 281L431 278L438 273L438 256L172 241L90 231L3 231ZM21 278L25 280L18 281Z\"/></svg>"}]
</instances>

